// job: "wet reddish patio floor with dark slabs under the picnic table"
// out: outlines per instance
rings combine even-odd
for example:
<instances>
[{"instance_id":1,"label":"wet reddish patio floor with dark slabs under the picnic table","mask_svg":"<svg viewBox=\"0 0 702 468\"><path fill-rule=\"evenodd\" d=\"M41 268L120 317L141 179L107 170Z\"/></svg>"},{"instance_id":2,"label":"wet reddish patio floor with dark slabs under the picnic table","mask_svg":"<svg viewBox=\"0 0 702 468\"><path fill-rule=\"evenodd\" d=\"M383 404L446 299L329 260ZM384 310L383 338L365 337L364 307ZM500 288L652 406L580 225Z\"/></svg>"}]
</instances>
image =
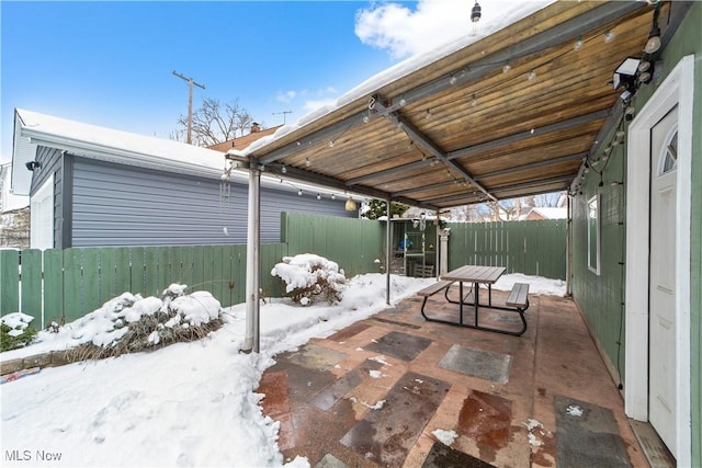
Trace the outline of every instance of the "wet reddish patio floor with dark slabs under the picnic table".
<instances>
[{"instance_id":1,"label":"wet reddish patio floor with dark slabs under the picnic table","mask_svg":"<svg viewBox=\"0 0 702 468\"><path fill-rule=\"evenodd\" d=\"M278 355L258 391L281 452L335 468L648 466L575 304L530 301L522 336L427 322L416 297Z\"/></svg>"}]
</instances>

